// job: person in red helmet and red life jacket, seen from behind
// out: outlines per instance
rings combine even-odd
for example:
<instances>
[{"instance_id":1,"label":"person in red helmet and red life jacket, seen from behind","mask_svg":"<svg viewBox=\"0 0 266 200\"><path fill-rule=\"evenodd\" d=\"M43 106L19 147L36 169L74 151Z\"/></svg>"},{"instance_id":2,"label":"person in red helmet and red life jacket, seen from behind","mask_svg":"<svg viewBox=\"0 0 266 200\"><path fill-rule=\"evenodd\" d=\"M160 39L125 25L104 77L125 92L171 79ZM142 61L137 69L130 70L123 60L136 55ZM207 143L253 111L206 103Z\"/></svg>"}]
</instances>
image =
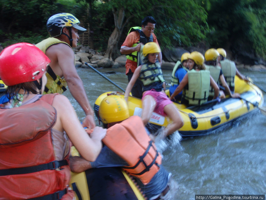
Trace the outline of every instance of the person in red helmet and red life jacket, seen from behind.
<instances>
[{"instance_id":1,"label":"person in red helmet and red life jacket, seen from behind","mask_svg":"<svg viewBox=\"0 0 266 200\"><path fill-rule=\"evenodd\" d=\"M106 129L89 136L64 95L42 95L50 59L32 44L0 53L0 77L9 102L0 104L1 199L71 200L70 143L95 161ZM71 122L71 123L69 123Z\"/></svg>"}]
</instances>

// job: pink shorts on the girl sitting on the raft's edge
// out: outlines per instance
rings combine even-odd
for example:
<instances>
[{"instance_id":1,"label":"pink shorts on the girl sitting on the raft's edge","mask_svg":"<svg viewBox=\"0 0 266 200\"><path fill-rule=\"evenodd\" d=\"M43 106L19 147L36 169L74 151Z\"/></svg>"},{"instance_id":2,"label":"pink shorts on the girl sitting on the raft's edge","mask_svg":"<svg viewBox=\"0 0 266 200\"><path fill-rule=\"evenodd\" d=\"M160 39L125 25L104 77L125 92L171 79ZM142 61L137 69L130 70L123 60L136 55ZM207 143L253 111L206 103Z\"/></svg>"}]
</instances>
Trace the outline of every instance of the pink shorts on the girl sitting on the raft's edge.
<instances>
[{"instance_id":1,"label":"pink shorts on the girl sitting on the raft's edge","mask_svg":"<svg viewBox=\"0 0 266 200\"><path fill-rule=\"evenodd\" d=\"M153 96L153 98L156 101L156 106L155 106L153 112L158 113L158 114L163 115L163 116L166 116L166 113L163 111L164 106L166 106L166 105L168 105L170 103L173 103L168 98L168 96L164 92L157 92L157 91L152 89L152 90L148 90L148 91L144 92L144 95L143 95L141 100L143 100L143 98L146 95Z\"/></svg>"}]
</instances>

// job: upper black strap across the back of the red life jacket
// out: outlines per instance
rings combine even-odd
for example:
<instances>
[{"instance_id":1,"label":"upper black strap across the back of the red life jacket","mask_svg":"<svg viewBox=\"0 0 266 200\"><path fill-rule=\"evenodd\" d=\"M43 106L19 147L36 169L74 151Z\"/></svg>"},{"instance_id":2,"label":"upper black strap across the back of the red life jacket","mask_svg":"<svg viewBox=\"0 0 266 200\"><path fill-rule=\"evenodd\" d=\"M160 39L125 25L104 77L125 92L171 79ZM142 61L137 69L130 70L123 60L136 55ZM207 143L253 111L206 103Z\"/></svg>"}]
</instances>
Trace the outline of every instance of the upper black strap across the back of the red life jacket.
<instances>
[{"instance_id":1,"label":"upper black strap across the back of the red life jacket","mask_svg":"<svg viewBox=\"0 0 266 200\"><path fill-rule=\"evenodd\" d=\"M13 169L0 169L0 176L17 175L17 174L29 174L34 172L40 172L43 170L53 170L58 167L68 165L67 160L52 161L46 164L40 164L32 167L21 167Z\"/></svg>"}]
</instances>

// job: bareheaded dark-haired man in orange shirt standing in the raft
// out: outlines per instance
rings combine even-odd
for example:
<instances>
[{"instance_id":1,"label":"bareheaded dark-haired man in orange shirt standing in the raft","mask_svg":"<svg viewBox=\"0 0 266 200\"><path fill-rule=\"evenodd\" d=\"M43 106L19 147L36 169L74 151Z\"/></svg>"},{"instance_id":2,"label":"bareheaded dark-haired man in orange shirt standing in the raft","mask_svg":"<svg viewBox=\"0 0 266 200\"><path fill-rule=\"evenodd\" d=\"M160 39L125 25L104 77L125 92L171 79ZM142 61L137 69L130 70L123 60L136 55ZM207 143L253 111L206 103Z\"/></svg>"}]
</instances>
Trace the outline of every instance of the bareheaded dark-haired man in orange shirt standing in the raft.
<instances>
[{"instance_id":1,"label":"bareheaded dark-haired man in orange shirt standing in the raft","mask_svg":"<svg viewBox=\"0 0 266 200\"><path fill-rule=\"evenodd\" d=\"M140 52L141 44L148 42L156 42L158 45L157 38L153 33L156 25L156 20L147 16L142 20L141 27L132 27L129 30L124 43L121 46L121 54L126 54L126 75L128 76L128 82L132 78L132 75L138 65L141 65L137 59L138 52ZM162 63L162 53L158 55L158 61ZM138 64L139 63L139 64ZM142 98L142 81L137 80L131 90L132 96Z\"/></svg>"}]
</instances>

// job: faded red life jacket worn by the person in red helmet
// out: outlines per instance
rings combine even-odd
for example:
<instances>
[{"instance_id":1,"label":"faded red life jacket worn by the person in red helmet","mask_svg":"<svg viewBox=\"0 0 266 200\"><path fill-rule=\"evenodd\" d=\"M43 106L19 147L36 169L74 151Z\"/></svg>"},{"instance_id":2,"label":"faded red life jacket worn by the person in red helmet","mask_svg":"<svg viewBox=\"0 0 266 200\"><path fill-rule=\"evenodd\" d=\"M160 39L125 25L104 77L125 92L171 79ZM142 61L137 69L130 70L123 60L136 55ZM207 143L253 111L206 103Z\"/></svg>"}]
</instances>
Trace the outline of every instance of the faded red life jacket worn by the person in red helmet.
<instances>
[{"instance_id":1,"label":"faded red life jacket worn by the person in red helmet","mask_svg":"<svg viewBox=\"0 0 266 200\"><path fill-rule=\"evenodd\" d=\"M34 103L0 108L0 199L72 199L68 156L55 161L51 128L56 122L52 102L57 94ZM55 196L55 197L53 197Z\"/></svg>"}]
</instances>

